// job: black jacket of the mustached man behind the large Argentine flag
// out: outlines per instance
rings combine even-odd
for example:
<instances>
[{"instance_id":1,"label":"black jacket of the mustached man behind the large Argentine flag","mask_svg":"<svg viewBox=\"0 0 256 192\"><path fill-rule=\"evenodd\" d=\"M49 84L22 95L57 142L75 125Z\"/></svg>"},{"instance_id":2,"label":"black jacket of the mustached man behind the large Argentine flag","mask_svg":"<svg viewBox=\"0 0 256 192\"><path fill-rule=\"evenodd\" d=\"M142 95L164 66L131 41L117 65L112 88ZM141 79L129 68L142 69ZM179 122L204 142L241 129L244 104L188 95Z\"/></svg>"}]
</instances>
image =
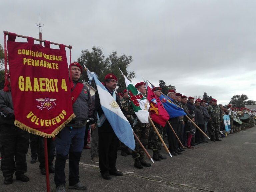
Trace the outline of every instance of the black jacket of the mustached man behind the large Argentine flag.
<instances>
[{"instance_id":1,"label":"black jacket of the mustached man behind the large Argentine flag","mask_svg":"<svg viewBox=\"0 0 256 192\"><path fill-rule=\"evenodd\" d=\"M111 95L110 92L109 92L109 94ZM119 105L119 107L122 109L121 101L120 101L120 98L117 94L116 94L116 102ZM95 109L97 110L99 117L101 117L101 115L103 114L103 110L102 110L101 105L100 105L100 97L99 97L98 91L95 93ZM114 132L114 131L113 131L110 123L106 119L104 121L104 123L102 124L102 126L98 127L98 132Z\"/></svg>"}]
</instances>

